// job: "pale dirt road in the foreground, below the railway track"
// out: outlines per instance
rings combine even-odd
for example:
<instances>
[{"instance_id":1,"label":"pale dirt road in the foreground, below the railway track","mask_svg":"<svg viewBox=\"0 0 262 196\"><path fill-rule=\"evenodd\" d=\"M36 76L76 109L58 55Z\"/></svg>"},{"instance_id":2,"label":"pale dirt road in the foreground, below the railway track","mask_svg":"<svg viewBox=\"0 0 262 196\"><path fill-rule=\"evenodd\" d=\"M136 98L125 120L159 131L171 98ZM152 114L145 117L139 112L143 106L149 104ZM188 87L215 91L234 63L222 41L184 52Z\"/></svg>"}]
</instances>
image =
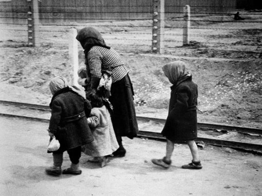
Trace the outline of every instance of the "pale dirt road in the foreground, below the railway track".
<instances>
[{"instance_id":1,"label":"pale dirt road in the foreground, below the railway track","mask_svg":"<svg viewBox=\"0 0 262 196\"><path fill-rule=\"evenodd\" d=\"M165 143L124 138L127 154L110 159L100 168L82 154L82 174L50 177L44 169L52 165L46 153L46 123L0 117L0 195L252 195L262 194L261 156L226 148L206 146L200 150L201 170L181 169L191 161L186 145L175 146L172 167L151 163L162 158ZM15 142L12 142L15 141ZM70 166L64 153L63 169Z\"/></svg>"}]
</instances>

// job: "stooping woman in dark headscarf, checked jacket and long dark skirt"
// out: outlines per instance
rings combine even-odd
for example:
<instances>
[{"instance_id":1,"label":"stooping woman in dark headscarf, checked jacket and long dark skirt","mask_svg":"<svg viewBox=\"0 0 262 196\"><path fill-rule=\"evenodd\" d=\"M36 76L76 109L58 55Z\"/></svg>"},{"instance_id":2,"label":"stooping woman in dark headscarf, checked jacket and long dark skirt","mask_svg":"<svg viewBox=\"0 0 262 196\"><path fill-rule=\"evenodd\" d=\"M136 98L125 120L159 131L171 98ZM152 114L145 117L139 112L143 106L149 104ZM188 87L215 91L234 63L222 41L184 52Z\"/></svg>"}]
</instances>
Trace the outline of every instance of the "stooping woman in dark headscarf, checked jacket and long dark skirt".
<instances>
[{"instance_id":1,"label":"stooping woman in dark headscarf, checked jacket and long dark skirt","mask_svg":"<svg viewBox=\"0 0 262 196\"><path fill-rule=\"evenodd\" d=\"M81 29L77 35L85 53L85 64L90 74L90 87L97 90L102 72L111 73L110 103L113 105L112 123L119 148L114 156L124 156L126 153L122 144L122 136L133 139L137 136L138 125L134 106L134 91L120 55L105 41L99 31L92 27Z\"/></svg>"}]
</instances>

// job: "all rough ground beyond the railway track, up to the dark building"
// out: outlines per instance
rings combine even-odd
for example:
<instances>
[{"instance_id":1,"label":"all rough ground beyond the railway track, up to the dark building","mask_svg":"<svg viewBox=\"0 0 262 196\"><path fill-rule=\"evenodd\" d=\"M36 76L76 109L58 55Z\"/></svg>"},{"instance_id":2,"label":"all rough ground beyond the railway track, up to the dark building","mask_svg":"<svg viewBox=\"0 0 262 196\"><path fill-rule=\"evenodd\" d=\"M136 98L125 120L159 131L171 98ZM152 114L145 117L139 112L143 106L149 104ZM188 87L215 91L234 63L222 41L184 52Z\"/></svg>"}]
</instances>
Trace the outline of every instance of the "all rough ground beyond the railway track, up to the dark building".
<instances>
[{"instance_id":1,"label":"all rough ground beyond the railway track, up to the dark building","mask_svg":"<svg viewBox=\"0 0 262 196\"><path fill-rule=\"evenodd\" d=\"M1 84L24 87L17 94L29 89L50 98L48 83L51 77L62 75L72 82L68 28L70 25L78 28L96 25L109 46L120 46L115 49L130 70L138 113L166 117L171 84L161 68L166 63L183 60L188 63L193 80L198 84L200 122L262 127L262 28L257 25L260 12L241 10L240 13L250 22L245 25L234 23L231 15L219 14L192 18L192 41L183 47L179 42L172 42L182 40L179 35L182 29L173 27L182 27L183 23L165 21L165 46L175 46L165 49L163 54L150 52L151 20L40 26L41 47L34 48L25 47L26 40L23 39L26 36L22 35L27 31L16 30L26 30L27 26L3 27L0 37ZM225 23L209 22L213 20ZM133 48L121 47L126 45ZM134 47L140 45L149 46L149 50ZM79 64L84 65L80 45Z\"/></svg>"}]
</instances>

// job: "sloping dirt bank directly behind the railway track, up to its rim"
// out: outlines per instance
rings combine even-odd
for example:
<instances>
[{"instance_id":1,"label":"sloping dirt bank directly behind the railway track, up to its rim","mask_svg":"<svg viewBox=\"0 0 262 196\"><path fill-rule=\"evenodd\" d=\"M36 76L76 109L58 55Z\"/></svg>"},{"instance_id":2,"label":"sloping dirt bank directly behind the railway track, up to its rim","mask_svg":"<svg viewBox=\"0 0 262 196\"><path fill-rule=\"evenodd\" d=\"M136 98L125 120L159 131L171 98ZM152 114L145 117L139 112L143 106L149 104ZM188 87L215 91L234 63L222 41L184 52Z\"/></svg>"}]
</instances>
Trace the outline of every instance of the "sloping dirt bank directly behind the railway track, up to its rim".
<instances>
[{"instance_id":1,"label":"sloping dirt bank directly behind the railway track, up to its rim","mask_svg":"<svg viewBox=\"0 0 262 196\"><path fill-rule=\"evenodd\" d=\"M50 98L48 83L51 77L62 75L72 81L67 48L5 46L0 51L2 84L23 87L17 94L28 89ZM80 65L83 65L83 52L79 55ZM262 61L259 59L145 53L121 53L121 57L130 70L138 113L166 117L171 84L161 68L165 63L183 60L188 63L193 80L198 84L200 122L262 127Z\"/></svg>"}]
</instances>

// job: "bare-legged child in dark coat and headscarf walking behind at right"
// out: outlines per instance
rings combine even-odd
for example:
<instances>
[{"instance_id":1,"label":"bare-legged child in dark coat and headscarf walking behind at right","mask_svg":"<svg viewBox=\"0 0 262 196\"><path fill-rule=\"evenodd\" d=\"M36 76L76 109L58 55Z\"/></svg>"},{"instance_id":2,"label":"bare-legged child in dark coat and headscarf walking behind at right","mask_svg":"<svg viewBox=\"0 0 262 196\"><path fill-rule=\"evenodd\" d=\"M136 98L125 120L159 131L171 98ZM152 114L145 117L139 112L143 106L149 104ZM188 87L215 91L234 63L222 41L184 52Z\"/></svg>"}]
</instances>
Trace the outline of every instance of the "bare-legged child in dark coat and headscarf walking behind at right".
<instances>
[{"instance_id":1,"label":"bare-legged child in dark coat and headscarf walking behind at right","mask_svg":"<svg viewBox=\"0 0 262 196\"><path fill-rule=\"evenodd\" d=\"M163 159L152 159L155 165L169 168L174 143L183 142L189 145L193 160L183 165L184 169L201 169L198 148L194 141L197 138L197 85L192 81L192 75L185 68L183 61L175 61L163 66L163 72L173 84L169 114L162 130L166 137L166 155Z\"/></svg>"}]
</instances>

